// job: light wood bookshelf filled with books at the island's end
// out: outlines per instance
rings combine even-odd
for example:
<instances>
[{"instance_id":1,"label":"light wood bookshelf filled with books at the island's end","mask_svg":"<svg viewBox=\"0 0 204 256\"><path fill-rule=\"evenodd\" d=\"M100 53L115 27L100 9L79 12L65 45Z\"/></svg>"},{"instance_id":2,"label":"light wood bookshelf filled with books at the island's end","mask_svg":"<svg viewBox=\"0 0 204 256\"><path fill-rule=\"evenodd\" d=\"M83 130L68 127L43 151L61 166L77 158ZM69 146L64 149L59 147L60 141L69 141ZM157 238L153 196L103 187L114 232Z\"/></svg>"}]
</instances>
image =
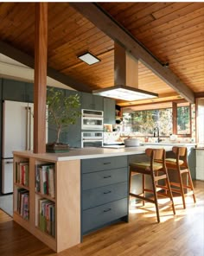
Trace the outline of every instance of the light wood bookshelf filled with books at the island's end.
<instances>
[{"instance_id":1,"label":"light wood bookshelf filled with books at the island's end","mask_svg":"<svg viewBox=\"0 0 204 256\"><path fill-rule=\"evenodd\" d=\"M79 244L80 160L15 152L14 221L57 253Z\"/></svg>"}]
</instances>

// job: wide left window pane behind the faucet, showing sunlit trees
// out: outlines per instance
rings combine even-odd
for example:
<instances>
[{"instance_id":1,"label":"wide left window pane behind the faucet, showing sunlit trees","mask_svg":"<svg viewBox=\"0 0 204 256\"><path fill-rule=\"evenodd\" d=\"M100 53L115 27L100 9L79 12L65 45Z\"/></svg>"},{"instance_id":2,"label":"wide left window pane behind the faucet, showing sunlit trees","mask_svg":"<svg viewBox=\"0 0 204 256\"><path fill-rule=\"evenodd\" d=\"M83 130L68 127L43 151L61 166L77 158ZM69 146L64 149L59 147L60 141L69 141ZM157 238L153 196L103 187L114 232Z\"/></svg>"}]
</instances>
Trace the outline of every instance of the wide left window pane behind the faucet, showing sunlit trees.
<instances>
[{"instance_id":1,"label":"wide left window pane behind the faucet, showing sunlit trees","mask_svg":"<svg viewBox=\"0 0 204 256\"><path fill-rule=\"evenodd\" d=\"M138 136L152 136L156 127L161 136L169 136L173 131L172 108L124 113L123 120L124 131L136 132Z\"/></svg>"}]
</instances>

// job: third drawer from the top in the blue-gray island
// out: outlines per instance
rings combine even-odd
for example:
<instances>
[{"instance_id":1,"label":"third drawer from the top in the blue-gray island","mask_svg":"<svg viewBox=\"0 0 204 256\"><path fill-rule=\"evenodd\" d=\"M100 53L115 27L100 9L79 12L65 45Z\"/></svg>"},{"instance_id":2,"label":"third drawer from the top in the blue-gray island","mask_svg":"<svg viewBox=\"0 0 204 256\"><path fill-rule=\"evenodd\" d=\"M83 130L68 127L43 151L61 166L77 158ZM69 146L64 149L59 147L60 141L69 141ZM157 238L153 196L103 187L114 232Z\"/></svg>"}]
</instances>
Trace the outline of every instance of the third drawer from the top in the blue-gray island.
<instances>
[{"instance_id":1,"label":"third drawer from the top in the blue-gray island","mask_svg":"<svg viewBox=\"0 0 204 256\"><path fill-rule=\"evenodd\" d=\"M128 196L127 182L83 191L82 208L92 208Z\"/></svg>"}]
</instances>

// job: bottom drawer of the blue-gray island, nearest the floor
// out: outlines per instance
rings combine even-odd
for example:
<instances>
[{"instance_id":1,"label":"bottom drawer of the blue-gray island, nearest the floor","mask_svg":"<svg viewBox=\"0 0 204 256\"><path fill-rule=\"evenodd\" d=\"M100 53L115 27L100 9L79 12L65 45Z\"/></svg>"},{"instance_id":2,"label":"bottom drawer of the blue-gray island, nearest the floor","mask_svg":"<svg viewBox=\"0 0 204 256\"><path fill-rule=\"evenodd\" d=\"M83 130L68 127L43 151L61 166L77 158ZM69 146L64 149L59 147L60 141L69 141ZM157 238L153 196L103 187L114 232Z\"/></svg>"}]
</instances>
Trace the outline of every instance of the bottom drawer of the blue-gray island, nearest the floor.
<instances>
[{"instance_id":1,"label":"bottom drawer of the blue-gray island, nearest the floor","mask_svg":"<svg viewBox=\"0 0 204 256\"><path fill-rule=\"evenodd\" d=\"M101 227L111 221L116 221L128 214L127 198L109 202L96 208L83 211L82 232L86 234L92 229Z\"/></svg>"}]
</instances>

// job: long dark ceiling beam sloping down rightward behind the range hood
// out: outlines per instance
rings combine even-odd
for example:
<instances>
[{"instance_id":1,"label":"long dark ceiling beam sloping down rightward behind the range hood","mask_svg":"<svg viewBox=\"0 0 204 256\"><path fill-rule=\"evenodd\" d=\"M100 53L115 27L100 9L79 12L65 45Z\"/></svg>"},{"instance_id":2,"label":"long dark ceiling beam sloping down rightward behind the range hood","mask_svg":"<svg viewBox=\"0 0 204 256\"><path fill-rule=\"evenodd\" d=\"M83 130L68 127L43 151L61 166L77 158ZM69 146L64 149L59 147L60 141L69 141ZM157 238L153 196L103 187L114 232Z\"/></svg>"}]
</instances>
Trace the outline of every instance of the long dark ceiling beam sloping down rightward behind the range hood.
<instances>
[{"instance_id":1,"label":"long dark ceiling beam sloping down rightward behind the range hood","mask_svg":"<svg viewBox=\"0 0 204 256\"><path fill-rule=\"evenodd\" d=\"M96 27L108 35L114 42L120 43L132 56L150 68L165 83L171 86L175 92L182 95L190 103L194 103L194 92L176 76L169 67L163 67L147 49L143 48L133 36L126 31L112 16L105 12L97 3L69 3L75 10L85 16Z\"/></svg>"}]
</instances>

